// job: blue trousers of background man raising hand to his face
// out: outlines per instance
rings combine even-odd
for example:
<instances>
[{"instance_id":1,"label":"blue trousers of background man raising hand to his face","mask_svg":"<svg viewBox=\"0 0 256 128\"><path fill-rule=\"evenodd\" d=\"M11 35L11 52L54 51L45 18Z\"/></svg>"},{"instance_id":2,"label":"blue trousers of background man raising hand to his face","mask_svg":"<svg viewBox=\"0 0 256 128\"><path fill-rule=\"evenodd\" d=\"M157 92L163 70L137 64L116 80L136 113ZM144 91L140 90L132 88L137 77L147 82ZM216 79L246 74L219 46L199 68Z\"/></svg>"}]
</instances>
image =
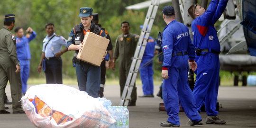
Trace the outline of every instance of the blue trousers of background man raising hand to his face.
<instances>
[{"instance_id":1,"label":"blue trousers of background man raising hand to his face","mask_svg":"<svg viewBox=\"0 0 256 128\"><path fill-rule=\"evenodd\" d=\"M27 80L29 77L29 67L30 67L30 61L27 60L19 60L19 66L20 66L20 77L21 77L21 83L22 83L22 94L25 94L27 91Z\"/></svg>"}]
</instances>

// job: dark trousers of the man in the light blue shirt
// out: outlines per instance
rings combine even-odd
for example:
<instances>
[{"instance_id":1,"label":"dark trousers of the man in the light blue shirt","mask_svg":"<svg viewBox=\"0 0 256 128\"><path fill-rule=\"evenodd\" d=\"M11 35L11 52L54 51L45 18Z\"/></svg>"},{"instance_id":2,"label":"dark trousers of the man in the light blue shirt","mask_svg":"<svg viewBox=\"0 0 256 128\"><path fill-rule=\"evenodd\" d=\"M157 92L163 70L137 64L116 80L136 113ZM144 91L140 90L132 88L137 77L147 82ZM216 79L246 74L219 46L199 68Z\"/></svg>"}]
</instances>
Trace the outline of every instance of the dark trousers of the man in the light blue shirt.
<instances>
[{"instance_id":1,"label":"dark trousers of the man in the light blue shirt","mask_svg":"<svg viewBox=\"0 0 256 128\"><path fill-rule=\"evenodd\" d=\"M46 60L46 83L58 83L62 84L62 59L61 57L55 57L50 60Z\"/></svg>"}]
</instances>

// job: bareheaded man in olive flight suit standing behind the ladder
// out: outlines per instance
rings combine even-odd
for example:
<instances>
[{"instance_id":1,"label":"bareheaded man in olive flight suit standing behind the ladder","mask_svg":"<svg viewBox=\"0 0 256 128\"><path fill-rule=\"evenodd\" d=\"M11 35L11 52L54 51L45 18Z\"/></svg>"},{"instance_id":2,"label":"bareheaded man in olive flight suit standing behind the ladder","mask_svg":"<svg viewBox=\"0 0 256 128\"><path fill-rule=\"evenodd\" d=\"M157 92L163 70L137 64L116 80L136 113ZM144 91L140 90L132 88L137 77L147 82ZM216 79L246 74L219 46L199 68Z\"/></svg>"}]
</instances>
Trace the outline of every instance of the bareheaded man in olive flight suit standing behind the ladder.
<instances>
[{"instance_id":1,"label":"bareheaded man in olive flight suit standing behind the ladder","mask_svg":"<svg viewBox=\"0 0 256 128\"><path fill-rule=\"evenodd\" d=\"M134 55L134 52L136 50L137 41L139 39L139 36L136 34L132 34L129 32L130 25L127 21L124 21L121 23L121 30L123 31L123 34L119 35L116 39L115 44L115 50L114 50L114 65L115 61L119 57L119 84L120 84L120 94L122 95L122 92L125 87L125 82L130 70L130 66L132 63L132 58ZM115 66L114 68L115 69ZM136 106L136 100L137 100L137 88L134 84L134 88L131 93L131 101L129 101L128 106Z\"/></svg>"}]
</instances>

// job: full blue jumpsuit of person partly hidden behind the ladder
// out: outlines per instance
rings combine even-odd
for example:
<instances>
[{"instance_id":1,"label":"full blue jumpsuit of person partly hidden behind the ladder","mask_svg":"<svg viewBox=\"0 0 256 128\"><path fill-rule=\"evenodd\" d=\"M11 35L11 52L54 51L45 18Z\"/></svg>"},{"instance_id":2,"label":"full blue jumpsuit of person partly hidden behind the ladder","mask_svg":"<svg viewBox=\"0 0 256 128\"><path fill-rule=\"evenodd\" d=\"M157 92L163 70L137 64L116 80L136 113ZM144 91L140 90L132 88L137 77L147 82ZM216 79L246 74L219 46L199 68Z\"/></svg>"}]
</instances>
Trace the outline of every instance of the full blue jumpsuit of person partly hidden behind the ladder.
<instances>
[{"instance_id":1,"label":"full blue jumpsuit of person partly hidden behind the ladder","mask_svg":"<svg viewBox=\"0 0 256 128\"><path fill-rule=\"evenodd\" d=\"M139 72L140 79L142 82L142 90L144 95L154 94L154 84L153 84L153 57L154 57L154 49L155 49L155 39L153 37L148 37L148 41L146 43L146 48L144 51L144 55L142 57L142 61L140 64Z\"/></svg>"}]
</instances>

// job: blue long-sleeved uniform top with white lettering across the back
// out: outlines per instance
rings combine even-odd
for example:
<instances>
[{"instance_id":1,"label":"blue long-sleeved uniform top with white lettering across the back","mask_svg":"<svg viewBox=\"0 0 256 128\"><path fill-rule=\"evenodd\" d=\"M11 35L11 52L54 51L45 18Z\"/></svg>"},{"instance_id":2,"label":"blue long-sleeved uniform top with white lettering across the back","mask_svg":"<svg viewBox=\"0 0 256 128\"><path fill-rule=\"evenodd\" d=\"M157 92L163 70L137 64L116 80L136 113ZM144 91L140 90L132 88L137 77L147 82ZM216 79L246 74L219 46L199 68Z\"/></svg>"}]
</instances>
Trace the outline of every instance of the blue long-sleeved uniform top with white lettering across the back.
<instances>
[{"instance_id":1,"label":"blue long-sleeved uniform top with white lettering across the back","mask_svg":"<svg viewBox=\"0 0 256 128\"><path fill-rule=\"evenodd\" d=\"M172 65L172 54L187 52L190 60L195 59L195 46L193 45L189 29L183 23L174 19L164 29L163 33L164 67Z\"/></svg>"}]
</instances>

